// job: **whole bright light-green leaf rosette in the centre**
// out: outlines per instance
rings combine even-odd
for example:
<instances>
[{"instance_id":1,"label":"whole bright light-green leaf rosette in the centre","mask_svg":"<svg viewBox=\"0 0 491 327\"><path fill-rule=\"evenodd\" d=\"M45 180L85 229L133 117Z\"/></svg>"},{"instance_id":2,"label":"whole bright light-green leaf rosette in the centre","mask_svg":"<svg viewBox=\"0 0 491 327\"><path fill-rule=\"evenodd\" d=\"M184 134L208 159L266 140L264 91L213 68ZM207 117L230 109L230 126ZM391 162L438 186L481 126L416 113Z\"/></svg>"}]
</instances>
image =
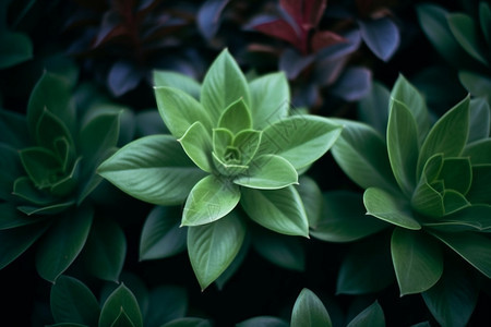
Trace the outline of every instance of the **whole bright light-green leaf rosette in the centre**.
<instances>
[{"instance_id":1,"label":"whole bright light-green leaf rosette in the centre","mask_svg":"<svg viewBox=\"0 0 491 327\"><path fill-rule=\"evenodd\" d=\"M321 117L290 116L284 74L248 83L227 50L202 85L182 76L173 81L178 88L155 87L172 135L136 140L98 172L139 199L184 203L180 225L189 227L188 252L204 289L239 253L248 230L243 217L278 233L308 237L295 185L340 126Z\"/></svg>"}]
</instances>

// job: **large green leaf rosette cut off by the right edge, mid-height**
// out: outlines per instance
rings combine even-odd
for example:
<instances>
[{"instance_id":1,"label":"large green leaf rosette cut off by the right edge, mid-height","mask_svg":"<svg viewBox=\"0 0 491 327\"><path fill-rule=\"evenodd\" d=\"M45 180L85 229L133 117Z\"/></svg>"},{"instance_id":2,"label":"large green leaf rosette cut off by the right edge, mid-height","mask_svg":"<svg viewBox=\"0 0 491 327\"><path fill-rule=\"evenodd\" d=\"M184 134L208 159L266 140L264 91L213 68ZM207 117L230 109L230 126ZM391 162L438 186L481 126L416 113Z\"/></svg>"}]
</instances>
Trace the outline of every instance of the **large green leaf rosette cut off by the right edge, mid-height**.
<instances>
[{"instance_id":1,"label":"large green leaf rosette cut off by the right edge, mid-height","mask_svg":"<svg viewBox=\"0 0 491 327\"><path fill-rule=\"evenodd\" d=\"M465 325L479 293L475 280L491 277L488 104L467 97L431 125L424 99L400 76L391 94L385 141L368 124L338 122L344 130L333 156L366 189L366 211L382 223L363 217L357 196L337 194L333 202L336 197L331 195L332 216L324 217L312 235L346 242L381 230L391 232L390 254L374 246L387 244L383 234L375 234L373 242L349 255L342 265L338 291L383 287L380 279L391 280L386 274L391 267L363 268L362 263L368 263L363 257L387 253L402 295L422 293L439 323ZM390 226L394 228L387 230ZM360 271L378 280L366 280L363 286Z\"/></svg>"}]
</instances>

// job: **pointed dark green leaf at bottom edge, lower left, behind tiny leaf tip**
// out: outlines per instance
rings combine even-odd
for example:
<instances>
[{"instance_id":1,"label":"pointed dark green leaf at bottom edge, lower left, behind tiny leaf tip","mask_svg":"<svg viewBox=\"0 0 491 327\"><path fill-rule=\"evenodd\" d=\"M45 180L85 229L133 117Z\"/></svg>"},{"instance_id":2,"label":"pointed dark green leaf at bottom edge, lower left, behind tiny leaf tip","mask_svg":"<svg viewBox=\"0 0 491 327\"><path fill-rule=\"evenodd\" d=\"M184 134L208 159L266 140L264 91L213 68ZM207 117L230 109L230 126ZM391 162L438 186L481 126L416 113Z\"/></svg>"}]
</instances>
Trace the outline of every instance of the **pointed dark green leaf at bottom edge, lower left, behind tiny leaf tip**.
<instances>
[{"instance_id":1,"label":"pointed dark green leaf at bottom edge, lower left, behind tiny leaf tip","mask_svg":"<svg viewBox=\"0 0 491 327\"><path fill-rule=\"evenodd\" d=\"M106 300L100 311L99 327L110 327L121 312L128 316L133 326L142 327L143 319L139 303L133 293L121 283Z\"/></svg>"}]
</instances>

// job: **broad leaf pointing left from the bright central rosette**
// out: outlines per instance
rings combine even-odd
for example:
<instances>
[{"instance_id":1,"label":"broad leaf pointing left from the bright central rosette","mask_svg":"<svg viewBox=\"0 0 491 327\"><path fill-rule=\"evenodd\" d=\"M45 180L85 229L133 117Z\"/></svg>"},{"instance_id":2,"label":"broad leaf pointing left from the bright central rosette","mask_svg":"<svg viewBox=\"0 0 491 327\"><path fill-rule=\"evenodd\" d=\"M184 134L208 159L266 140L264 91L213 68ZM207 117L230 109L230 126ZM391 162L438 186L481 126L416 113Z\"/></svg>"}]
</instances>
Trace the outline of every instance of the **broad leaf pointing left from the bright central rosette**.
<instances>
[{"instance_id":1,"label":"broad leaf pointing left from the bright central rosette","mask_svg":"<svg viewBox=\"0 0 491 327\"><path fill-rule=\"evenodd\" d=\"M129 143L104 161L98 173L131 196L157 205L182 203L205 175L170 135Z\"/></svg>"}]
</instances>

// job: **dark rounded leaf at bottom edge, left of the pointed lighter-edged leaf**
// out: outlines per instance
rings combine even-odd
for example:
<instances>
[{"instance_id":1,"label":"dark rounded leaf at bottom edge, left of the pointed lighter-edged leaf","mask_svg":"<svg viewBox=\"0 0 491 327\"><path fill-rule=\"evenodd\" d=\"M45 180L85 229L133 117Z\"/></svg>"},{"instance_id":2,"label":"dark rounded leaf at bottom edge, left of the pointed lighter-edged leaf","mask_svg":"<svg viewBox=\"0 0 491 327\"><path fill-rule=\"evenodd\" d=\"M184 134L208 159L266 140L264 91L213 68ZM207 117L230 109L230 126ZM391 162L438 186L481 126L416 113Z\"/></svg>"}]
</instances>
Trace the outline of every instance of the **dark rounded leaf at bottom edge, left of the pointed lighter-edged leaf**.
<instances>
[{"instance_id":1,"label":"dark rounded leaf at bottom edge, left of the pointed lighter-edged leaf","mask_svg":"<svg viewBox=\"0 0 491 327\"><path fill-rule=\"evenodd\" d=\"M50 307L56 323L96 326L100 313L99 303L91 290L69 276L60 276L51 287Z\"/></svg>"}]
</instances>

